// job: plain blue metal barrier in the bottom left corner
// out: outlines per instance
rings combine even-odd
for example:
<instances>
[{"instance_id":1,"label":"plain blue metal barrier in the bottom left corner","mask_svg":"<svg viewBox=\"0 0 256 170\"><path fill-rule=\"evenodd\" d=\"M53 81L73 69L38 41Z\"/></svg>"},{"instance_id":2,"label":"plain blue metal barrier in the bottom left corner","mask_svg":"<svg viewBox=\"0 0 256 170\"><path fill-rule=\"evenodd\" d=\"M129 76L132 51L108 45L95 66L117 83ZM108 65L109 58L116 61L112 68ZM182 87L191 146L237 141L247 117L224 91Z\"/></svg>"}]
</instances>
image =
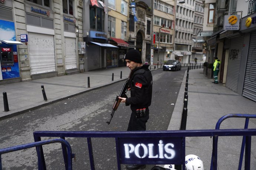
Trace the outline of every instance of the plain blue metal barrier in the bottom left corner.
<instances>
[{"instance_id":1,"label":"plain blue metal barrier in the bottom left corner","mask_svg":"<svg viewBox=\"0 0 256 170\"><path fill-rule=\"evenodd\" d=\"M17 150L22 150L22 149L28 149L31 147L39 147L42 145L46 145L46 144L50 144L50 143L61 143L63 146L65 146L65 150L67 153L67 167L68 170L72 170L72 150L71 150L71 146L69 145L69 143L64 140L64 139L50 139L50 140L43 140L43 141L38 141L38 142L32 142L32 143L27 143L24 145L18 145L18 146L12 146L12 147L7 147L4 149L0 149L0 170L2 170L2 161L1 161L1 154L4 153L8 153L8 152L14 152ZM63 150L64 148L62 148ZM42 159L40 156L42 154L40 154L40 152L38 152L38 148L37 148L37 159L38 159L38 169L42 170L42 169L46 169L46 168L42 168L42 165L45 164L45 160Z\"/></svg>"}]
</instances>

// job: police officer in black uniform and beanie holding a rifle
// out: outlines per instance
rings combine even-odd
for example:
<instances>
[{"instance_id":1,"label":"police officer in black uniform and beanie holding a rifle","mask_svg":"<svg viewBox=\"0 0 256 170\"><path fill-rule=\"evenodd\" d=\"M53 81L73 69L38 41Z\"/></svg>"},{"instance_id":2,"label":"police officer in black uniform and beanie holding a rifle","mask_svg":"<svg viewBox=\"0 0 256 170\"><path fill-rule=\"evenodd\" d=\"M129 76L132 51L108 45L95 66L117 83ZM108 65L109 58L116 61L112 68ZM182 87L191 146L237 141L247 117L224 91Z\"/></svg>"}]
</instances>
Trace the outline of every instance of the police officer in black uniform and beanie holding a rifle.
<instances>
[{"instance_id":1,"label":"police officer in black uniform and beanie holding a rifle","mask_svg":"<svg viewBox=\"0 0 256 170\"><path fill-rule=\"evenodd\" d=\"M121 98L121 102L125 102L131 105L131 117L129 120L127 131L134 130L146 130L146 122L149 118L149 109L151 105L152 98L152 74L148 69L149 65L143 65L141 61L141 55L137 50L129 50L125 56L125 61L127 62L127 67L133 71L133 76L131 79L131 97ZM145 109L144 109L145 108ZM139 114L138 114L138 109ZM142 109L142 114L140 114ZM144 109L144 110L143 110ZM145 165L127 165L126 168L141 169L145 168Z\"/></svg>"}]
</instances>

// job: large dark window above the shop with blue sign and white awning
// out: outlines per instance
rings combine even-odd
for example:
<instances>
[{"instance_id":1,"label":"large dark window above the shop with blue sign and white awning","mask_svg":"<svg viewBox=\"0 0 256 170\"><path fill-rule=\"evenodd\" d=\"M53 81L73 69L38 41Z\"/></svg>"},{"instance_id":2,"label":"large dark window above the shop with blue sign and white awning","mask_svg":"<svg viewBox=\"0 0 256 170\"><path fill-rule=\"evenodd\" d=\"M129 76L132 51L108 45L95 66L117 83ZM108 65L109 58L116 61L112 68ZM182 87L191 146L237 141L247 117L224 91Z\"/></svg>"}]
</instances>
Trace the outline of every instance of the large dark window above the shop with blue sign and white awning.
<instances>
[{"instance_id":1,"label":"large dark window above the shop with blue sign and white awning","mask_svg":"<svg viewBox=\"0 0 256 170\"><path fill-rule=\"evenodd\" d=\"M104 31L105 13L101 8L90 6L90 28L96 31Z\"/></svg>"}]
</instances>

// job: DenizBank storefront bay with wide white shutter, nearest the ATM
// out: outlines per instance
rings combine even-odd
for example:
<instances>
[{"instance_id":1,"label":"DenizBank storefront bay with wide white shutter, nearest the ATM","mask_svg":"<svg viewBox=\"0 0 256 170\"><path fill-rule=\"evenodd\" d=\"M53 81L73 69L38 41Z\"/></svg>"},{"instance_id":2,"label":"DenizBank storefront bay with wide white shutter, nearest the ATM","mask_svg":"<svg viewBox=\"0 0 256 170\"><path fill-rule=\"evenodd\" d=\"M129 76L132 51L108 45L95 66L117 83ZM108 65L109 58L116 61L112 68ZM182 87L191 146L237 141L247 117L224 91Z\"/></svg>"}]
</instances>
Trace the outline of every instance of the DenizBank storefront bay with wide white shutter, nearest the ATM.
<instances>
[{"instance_id":1,"label":"DenizBank storefront bay with wide white shutter, nearest the ATM","mask_svg":"<svg viewBox=\"0 0 256 170\"><path fill-rule=\"evenodd\" d=\"M32 79L38 74L56 72L55 31L53 12L28 3L25 4Z\"/></svg>"}]
</instances>

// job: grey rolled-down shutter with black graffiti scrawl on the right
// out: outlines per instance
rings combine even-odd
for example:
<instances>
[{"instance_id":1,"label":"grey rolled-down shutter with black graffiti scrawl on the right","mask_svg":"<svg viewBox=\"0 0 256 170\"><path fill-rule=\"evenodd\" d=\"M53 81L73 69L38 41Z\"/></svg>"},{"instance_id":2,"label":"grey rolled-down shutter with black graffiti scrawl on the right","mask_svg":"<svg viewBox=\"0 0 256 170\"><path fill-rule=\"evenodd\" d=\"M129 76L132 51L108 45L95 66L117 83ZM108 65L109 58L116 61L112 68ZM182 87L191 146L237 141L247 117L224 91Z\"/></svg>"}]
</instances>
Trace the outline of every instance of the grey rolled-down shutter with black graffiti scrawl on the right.
<instances>
[{"instance_id":1,"label":"grey rolled-down shutter with black graffiti scrawl on the right","mask_svg":"<svg viewBox=\"0 0 256 170\"><path fill-rule=\"evenodd\" d=\"M229 63L227 65L226 87L237 92L243 37L236 37L230 40Z\"/></svg>"}]
</instances>

